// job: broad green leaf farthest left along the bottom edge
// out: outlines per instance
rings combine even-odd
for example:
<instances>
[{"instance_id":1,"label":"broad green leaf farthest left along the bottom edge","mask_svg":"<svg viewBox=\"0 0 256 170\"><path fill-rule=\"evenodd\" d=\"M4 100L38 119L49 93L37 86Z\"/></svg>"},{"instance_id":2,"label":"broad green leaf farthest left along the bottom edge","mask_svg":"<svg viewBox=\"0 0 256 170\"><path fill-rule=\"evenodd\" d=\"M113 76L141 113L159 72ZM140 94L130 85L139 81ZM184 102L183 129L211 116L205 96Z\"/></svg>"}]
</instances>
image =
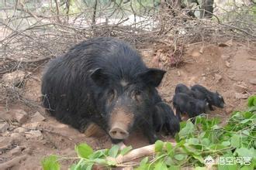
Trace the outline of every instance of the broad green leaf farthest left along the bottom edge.
<instances>
[{"instance_id":1,"label":"broad green leaf farthest left along the bottom edge","mask_svg":"<svg viewBox=\"0 0 256 170\"><path fill-rule=\"evenodd\" d=\"M57 162L56 155L50 155L47 158L43 158L41 162L43 170L58 170L61 169L61 165Z\"/></svg>"}]
</instances>

